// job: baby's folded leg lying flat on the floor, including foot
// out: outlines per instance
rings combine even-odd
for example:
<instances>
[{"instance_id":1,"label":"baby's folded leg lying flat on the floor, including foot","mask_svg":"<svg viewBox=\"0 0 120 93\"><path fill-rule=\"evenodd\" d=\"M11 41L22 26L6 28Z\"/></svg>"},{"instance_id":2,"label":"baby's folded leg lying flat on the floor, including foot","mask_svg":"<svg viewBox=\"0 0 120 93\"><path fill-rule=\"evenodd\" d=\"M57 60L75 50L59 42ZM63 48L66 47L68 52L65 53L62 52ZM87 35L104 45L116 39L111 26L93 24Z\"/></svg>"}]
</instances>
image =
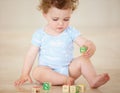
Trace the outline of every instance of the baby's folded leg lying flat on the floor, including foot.
<instances>
[{"instance_id":1,"label":"baby's folded leg lying flat on the floor, including foot","mask_svg":"<svg viewBox=\"0 0 120 93\"><path fill-rule=\"evenodd\" d=\"M33 71L33 77L40 83L51 82L52 85L71 85L74 83L71 77L57 73L46 66L36 67Z\"/></svg>"}]
</instances>

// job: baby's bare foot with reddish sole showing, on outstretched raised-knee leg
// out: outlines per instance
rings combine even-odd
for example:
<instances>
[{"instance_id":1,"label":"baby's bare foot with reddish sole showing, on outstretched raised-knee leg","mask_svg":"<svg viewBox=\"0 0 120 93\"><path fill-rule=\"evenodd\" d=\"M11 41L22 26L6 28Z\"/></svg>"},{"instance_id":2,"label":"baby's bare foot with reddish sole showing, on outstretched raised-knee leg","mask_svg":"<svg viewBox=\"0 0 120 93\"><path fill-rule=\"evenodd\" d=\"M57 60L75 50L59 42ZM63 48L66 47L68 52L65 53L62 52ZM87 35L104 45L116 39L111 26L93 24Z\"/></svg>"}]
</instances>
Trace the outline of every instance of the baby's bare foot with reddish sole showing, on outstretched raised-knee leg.
<instances>
[{"instance_id":1,"label":"baby's bare foot with reddish sole showing, on outstretched raised-knee leg","mask_svg":"<svg viewBox=\"0 0 120 93\"><path fill-rule=\"evenodd\" d=\"M98 88L104 85L109 79L110 77L107 73L98 75L96 79L94 80L93 84L91 85L91 88Z\"/></svg>"}]
</instances>

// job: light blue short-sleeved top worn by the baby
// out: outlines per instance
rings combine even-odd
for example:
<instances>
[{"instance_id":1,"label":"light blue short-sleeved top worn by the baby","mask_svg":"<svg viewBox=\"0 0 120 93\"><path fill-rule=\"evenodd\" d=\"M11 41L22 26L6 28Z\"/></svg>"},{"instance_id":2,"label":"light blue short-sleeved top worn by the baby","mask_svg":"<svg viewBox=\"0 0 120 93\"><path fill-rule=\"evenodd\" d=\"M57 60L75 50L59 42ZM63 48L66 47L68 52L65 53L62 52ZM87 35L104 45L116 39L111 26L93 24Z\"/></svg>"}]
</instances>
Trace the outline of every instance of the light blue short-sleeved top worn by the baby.
<instances>
[{"instance_id":1,"label":"light blue short-sleeved top worn by the baby","mask_svg":"<svg viewBox=\"0 0 120 93\"><path fill-rule=\"evenodd\" d=\"M58 68L68 66L73 59L73 41L80 32L68 27L58 36L52 36L44 31L37 30L32 37L32 44L39 47L39 65Z\"/></svg>"}]
</instances>

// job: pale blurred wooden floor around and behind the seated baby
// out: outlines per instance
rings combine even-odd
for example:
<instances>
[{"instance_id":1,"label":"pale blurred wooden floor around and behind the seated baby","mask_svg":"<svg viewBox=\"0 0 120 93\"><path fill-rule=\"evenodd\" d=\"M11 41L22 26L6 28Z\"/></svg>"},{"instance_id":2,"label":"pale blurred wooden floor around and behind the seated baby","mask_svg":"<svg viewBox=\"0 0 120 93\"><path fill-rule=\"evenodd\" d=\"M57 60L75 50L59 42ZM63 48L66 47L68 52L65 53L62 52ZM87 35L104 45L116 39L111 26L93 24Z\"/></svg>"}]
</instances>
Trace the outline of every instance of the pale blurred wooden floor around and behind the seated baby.
<instances>
[{"instance_id":1,"label":"pale blurred wooden floor around and behind the seated baby","mask_svg":"<svg viewBox=\"0 0 120 93\"><path fill-rule=\"evenodd\" d=\"M83 77L76 80L75 84L84 84L85 93L119 93L120 28L81 29L81 31L96 44L97 51L92 57L96 71L108 72L111 80L98 89L91 89ZM33 29L0 29L0 93L32 93L35 83L15 87L14 81L20 76L33 32ZM79 55L76 46L74 55ZM34 66L36 65L37 60ZM62 87L52 86L50 93L62 93Z\"/></svg>"}]
</instances>

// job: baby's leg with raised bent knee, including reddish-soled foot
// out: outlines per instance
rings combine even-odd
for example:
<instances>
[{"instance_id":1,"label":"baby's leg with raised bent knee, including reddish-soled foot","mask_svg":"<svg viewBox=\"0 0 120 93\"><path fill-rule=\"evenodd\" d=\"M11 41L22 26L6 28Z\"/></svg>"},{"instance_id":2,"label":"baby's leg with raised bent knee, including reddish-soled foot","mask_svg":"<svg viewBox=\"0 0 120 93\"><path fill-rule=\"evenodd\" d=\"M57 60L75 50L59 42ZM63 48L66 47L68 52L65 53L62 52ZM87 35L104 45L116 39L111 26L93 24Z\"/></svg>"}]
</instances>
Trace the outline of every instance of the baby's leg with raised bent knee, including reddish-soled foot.
<instances>
[{"instance_id":1,"label":"baby's leg with raised bent knee, including reddish-soled foot","mask_svg":"<svg viewBox=\"0 0 120 93\"><path fill-rule=\"evenodd\" d=\"M92 88L97 88L109 80L108 74L97 75L91 61L84 56L74 59L69 66L70 75L78 78L81 74Z\"/></svg>"}]
</instances>

